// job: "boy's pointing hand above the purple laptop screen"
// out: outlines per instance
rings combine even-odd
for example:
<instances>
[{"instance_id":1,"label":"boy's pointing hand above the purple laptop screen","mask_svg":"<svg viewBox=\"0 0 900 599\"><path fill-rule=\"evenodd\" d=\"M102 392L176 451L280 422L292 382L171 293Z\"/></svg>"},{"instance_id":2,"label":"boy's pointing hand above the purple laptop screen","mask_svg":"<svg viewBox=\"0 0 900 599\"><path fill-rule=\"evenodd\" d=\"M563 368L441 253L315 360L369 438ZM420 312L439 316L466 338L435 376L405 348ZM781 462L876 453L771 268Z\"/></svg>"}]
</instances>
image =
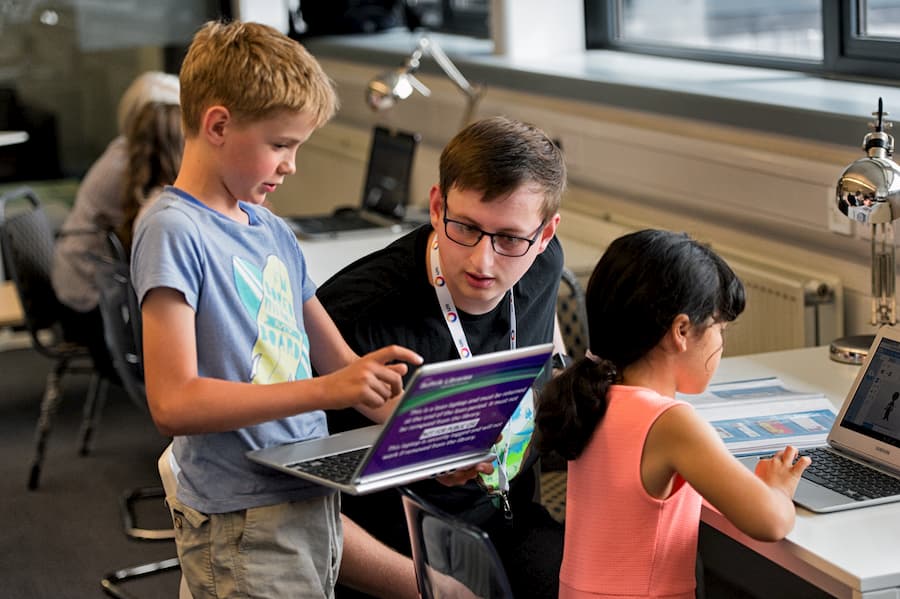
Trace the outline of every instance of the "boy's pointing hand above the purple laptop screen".
<instances>
[{"instance_id":1,"label":"boy's pointing hand above the purple laptop screen","mask_svg":"<svg viewBox=\"0 0 900 599\"><path fill-rule=\"evenodd\" d=\"M382 347L362 356L349 366L321 377L327 380L328 394L335 408L362 404L379 408L403 391L403 375L407 366L421 364L422 356L399 345Z\"/></svg>"}]
</instances>

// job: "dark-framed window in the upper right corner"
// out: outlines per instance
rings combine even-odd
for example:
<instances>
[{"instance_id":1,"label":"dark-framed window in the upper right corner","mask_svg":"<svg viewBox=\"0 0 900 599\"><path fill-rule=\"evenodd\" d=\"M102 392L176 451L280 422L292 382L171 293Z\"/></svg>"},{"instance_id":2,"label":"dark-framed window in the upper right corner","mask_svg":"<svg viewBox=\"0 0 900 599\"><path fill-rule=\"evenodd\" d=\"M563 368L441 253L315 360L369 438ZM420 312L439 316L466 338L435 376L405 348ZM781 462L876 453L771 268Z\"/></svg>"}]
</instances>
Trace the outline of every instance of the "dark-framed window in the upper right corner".
<instances>
[{"instance_id":1,"label":"dark-framed window in the upper right corner","mask_svg":"<svg viewBox=\"0 0 900 599\"><path fill-rule=\"evenodd\" d=\"M900 0L586 0L588 48L900 78Z\"/></svg>"}]
</instances>

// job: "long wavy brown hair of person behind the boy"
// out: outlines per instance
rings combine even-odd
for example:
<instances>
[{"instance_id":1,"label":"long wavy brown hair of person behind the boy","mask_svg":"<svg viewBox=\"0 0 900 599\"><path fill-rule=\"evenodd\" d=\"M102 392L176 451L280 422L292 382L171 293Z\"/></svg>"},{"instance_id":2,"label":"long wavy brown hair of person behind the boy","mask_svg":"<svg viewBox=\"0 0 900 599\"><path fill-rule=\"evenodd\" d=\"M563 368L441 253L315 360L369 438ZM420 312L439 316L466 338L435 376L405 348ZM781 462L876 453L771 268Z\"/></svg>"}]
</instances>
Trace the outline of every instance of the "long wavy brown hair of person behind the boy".
<instances>
[{"instance_id":1,"label":"long wavy brown hair of person behind the boy","mask_svg":"<svg viewBox=\"0 0 900 599\"><path fill-rule=\"evenodd\" d=\"M128 168L122 190L122 223L116 234L130 254L137 221L178 174L184 149L181 107L164 102L145 104L132 119L126 138Z\"/></svg>"}]
</instances>

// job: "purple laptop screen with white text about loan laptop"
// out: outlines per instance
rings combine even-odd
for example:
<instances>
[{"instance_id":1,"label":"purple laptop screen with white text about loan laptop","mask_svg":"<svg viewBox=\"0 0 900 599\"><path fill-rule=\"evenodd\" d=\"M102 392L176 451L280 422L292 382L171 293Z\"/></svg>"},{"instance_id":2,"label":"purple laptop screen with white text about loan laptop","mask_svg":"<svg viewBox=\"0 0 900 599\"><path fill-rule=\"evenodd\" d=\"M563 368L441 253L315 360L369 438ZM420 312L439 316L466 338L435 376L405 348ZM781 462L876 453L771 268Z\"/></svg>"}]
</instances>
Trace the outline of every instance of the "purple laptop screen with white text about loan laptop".
<instances>
[{"instance_id":1,"label":"purple laptop screen with white text about loan laptop","mask_svg":"<svg viewBox=\"0 0 900 599\"><path fill-rule=\"evenodd\" d=\"M461 360L452 372L420 369L362 475L491 447L549 357L550 349L499 362Z\"/></svg>"}]
</instances>

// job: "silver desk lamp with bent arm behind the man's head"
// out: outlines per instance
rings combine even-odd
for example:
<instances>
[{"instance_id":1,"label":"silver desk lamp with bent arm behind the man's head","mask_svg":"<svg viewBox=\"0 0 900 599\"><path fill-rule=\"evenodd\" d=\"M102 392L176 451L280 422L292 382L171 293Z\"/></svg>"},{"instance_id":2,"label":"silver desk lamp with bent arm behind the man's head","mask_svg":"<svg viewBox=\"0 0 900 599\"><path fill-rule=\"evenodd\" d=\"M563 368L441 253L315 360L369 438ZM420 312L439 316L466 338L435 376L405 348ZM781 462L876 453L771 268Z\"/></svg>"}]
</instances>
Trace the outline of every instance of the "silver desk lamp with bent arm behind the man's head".
<instances>
[{"instance_id":1,"label":"silver desk lamp with bent arm behind the man's head","mask_svg":"<svg viewBox=\"0 0 900 599\"><path fill-rule=\"evenodd\" d=\"M418 91L426 97L430 96L431 90L415 76L420 61L426 54L434 58L444 74L466 95L466 112L462 122L462 126L465 127L472 120L484 91L481 86L469 83L438 43L426 36L419 38L415 50L402 67L382 73L369 81L366 86L366 103L372 110L387 110L400 100L410 97L413 91Z\"/></svg>"}]
</instances>

